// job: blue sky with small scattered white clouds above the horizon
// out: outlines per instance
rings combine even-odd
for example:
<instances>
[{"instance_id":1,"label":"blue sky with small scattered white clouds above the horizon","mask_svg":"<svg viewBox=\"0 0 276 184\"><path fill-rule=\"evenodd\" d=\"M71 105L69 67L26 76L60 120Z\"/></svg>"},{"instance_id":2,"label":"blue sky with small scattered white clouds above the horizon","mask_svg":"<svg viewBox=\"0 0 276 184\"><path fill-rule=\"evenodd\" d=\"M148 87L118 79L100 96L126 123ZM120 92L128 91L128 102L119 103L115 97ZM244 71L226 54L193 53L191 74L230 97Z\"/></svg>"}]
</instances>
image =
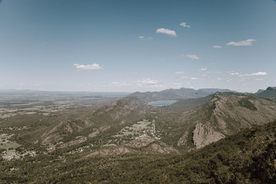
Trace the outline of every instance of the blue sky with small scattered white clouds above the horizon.
<instances>
[{"instance_id":1,"label":"blue sky with small scattered white clouds above the horizon","mask_svg":"<svg viewBox=\"0 0 276 184\"><path fill-rule=\"evenodd\" d=\"M0 0L0 89L276 86L275 0Z\"/></svg>"}]
</instances>

